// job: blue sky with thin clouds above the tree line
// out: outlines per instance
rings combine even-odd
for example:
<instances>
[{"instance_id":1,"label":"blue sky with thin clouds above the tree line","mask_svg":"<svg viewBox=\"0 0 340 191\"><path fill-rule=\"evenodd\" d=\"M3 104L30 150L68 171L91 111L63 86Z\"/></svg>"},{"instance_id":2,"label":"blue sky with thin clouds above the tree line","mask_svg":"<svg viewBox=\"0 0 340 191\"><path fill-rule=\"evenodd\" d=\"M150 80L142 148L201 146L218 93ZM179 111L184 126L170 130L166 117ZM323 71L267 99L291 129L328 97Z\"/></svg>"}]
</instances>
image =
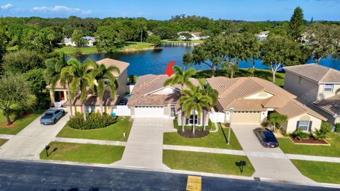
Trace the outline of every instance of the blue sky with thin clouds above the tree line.
<instances>
[{"instance_id":1,"label":"blue sky with thin clouds above the tree line","mask_svg":"<svg viewBox=\"0 0 340 191\"><path fill-rule=\"evenodd\" d=\"M296 6L305 19L340 21L340 0L0 0L2 16L145 17L169 20L186 14L244 21L289 20Z\"/></svg>"}]
</instances>

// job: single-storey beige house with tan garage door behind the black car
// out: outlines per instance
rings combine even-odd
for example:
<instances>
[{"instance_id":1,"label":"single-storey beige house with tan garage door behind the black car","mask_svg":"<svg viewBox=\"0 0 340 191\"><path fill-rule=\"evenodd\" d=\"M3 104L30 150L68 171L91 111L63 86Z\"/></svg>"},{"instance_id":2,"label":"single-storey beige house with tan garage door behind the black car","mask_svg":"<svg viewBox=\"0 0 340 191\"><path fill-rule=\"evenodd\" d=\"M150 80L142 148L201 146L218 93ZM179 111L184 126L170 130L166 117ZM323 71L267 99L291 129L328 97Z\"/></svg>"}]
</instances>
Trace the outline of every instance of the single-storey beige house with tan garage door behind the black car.
<instances>
[{"instance_id":1,"label":"single-storey beige house with tan garage door behind the black car","mask_svg":"<svg viewBox=\"0 0 340 191\"><path fill-rule=\"evenodd\" d=\"M278 112L288 117L283 130L291 133L299 128L311 132L320 128L322 120L327 120L270 81L214 77L207 79L207 83L219 93L215 110L225 113L224 122L260 124L272 112Z\"/></svg>"}]
</instances>

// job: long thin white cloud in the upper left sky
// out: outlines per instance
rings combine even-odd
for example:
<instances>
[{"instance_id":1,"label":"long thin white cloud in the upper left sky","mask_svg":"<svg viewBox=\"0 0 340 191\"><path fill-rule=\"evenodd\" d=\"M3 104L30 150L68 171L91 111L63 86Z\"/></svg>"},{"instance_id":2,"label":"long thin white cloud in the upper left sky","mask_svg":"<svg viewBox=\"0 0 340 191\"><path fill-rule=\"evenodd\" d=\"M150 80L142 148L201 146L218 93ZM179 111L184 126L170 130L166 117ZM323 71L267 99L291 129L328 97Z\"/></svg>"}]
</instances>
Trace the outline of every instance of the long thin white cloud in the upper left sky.
<instances>
[{"instance_id":1,"label":"long thin white cloud in the upper left sky","mask_svg":"<svg viewBox=\"0 0 340 191\"><path fill-rule=\"evenodd\" d=\"M81 10L80 8L70 8L67 6L35 6L31 8L33 12L54 12L54 13L81 13L90 14L91 10Z\"/></svg>"}]
</instances>

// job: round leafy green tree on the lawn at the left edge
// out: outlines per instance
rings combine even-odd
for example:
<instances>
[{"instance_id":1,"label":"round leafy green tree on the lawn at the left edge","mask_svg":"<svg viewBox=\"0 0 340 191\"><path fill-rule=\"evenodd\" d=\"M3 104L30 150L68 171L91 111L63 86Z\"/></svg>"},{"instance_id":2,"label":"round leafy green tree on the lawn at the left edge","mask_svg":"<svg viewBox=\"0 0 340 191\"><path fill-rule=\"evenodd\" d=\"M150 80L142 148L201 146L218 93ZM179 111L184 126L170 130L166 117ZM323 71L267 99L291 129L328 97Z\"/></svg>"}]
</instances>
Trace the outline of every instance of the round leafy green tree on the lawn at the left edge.
<instances>
[{"instance_id":1,"label":"round leafy green tree on the lawn at the left edge","mask_svg":"<svg viewBox=\"0 0 340 191\"><path fill-rule=\"evenodd\" d=\"M22 75L7 74L0 79L0 110L4 112L7 125L11 125L10 115L13 105L30 107L30 83Z\"/></svg>"}]
</instances>

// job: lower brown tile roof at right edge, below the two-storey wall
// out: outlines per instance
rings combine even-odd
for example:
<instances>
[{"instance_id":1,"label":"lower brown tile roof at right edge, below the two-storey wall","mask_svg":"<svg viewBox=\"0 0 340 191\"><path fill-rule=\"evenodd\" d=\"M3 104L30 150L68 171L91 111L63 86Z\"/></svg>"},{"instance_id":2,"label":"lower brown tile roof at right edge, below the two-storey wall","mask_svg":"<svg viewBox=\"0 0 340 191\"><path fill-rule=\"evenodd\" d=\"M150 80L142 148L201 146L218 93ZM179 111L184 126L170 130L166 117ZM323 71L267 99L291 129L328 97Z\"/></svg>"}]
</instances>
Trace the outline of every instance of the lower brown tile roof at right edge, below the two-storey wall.
<instances>
[{"instance_id":1,"label":"lower brown tile roof at right edge, below the two-storey wall","mask_svg":"<svg viewBox=\"0 0 340 191\"><path fill-rule=\"evenodd\" d=\"M314 105L331 115L340 115L340 94L315 102Z\"/></svg>"}]
</instances>

